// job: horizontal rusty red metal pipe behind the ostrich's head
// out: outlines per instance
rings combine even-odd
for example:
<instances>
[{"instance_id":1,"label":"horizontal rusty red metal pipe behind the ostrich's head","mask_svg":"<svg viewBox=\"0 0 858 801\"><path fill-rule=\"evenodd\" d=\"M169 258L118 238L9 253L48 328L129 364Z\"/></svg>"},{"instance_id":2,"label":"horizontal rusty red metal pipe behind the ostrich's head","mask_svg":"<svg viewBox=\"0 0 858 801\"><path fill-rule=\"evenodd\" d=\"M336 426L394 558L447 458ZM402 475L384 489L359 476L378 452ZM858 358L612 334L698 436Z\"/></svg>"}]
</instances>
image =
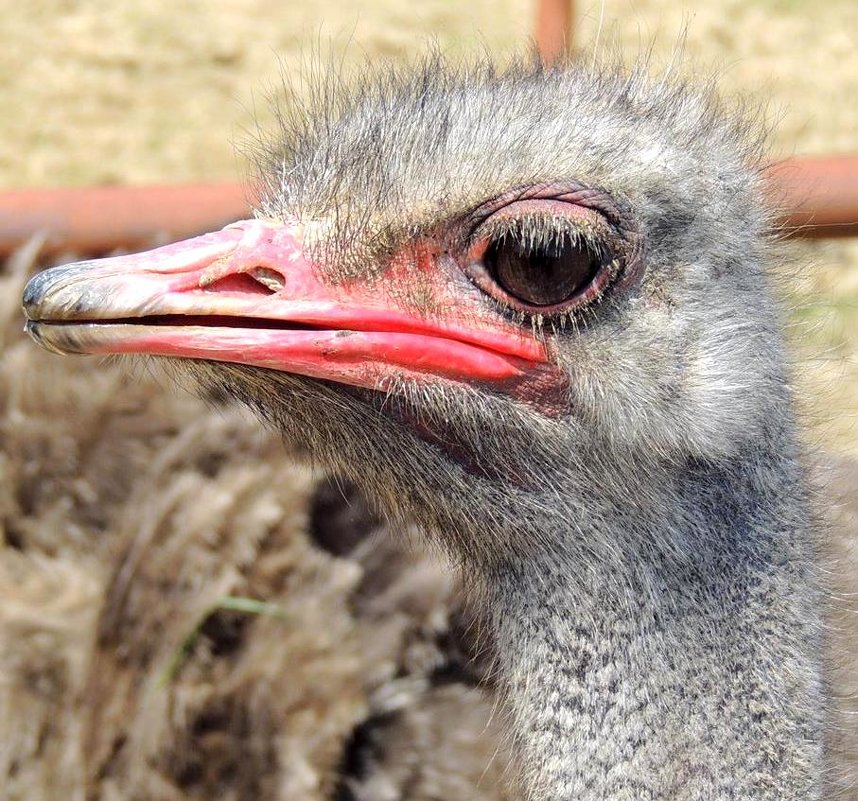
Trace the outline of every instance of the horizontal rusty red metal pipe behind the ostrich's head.
<instances>
[{"instance_id":1,"label":"horizontal rusty red metal pipe behind the ostrich's head","mask_svg":"<svg viewBox=\"0 0 858 801\"><path fill-rule=\"evenodd\" d=\"M858 156L776 162L767 170L771 199L791 236L858 235ZM237 183L179 186L23 189L0 192L0 256L32 236L42 251L106 253L146 247L211 230L250 212Z\"/></svg>"}]
</instances>

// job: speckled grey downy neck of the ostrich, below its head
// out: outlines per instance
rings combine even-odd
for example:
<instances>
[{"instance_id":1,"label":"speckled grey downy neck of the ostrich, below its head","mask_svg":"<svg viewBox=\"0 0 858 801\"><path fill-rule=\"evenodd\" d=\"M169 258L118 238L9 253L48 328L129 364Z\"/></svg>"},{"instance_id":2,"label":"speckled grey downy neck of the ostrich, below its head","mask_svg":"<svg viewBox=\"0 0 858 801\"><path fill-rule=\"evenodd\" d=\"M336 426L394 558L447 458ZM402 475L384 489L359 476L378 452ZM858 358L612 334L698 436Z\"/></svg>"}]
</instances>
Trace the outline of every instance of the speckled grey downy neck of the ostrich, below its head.
<instances>
[{"instance_id":1,"label":"speckled grey downy neck of the ostrich, below its head","mask_svg":"<svg viewBox=\"0 0 858 801\"><path fill-rule=\"evenodd\" d=\"M770 489L769 504L721 499L706 525L685 515L685 531L644 510L638 532L592 533L608 544L598 558L576 526L499 571L490 603L529 798L819 797L812 538L791 488ZM681 557L651 545L677 534Z\"/></svg>"}]
</instances>

